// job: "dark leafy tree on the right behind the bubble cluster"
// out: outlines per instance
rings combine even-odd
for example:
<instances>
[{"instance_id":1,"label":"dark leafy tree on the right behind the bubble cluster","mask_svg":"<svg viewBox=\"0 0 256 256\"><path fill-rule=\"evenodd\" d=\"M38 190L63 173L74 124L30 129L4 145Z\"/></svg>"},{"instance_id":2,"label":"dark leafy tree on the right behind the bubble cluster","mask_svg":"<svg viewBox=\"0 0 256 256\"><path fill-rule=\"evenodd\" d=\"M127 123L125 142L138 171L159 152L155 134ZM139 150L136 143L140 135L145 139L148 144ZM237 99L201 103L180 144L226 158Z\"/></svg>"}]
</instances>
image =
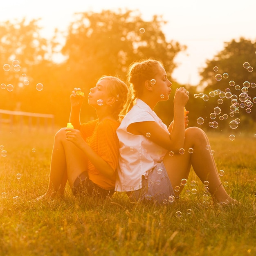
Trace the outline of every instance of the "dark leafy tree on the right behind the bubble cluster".
<instances>
[{"instance_id":1,"label":"dark leafy tree on the right behind the bubble cluster","mask_svg":"<svg viewBox=\"0 0 256 256\"><path fill-rule=\"evenodd\" d=\"M248 63L250 68L247 69L244 63ZM207 103L208 106L210 105L210 108L206 109L205 114L209 116L213 109L219 106L222 114L226 113L230 116L233 108L231 106L234 103L234 101L232 103L232 99L237 98L239 107L234 112L233 119L243 119L241 126L244 128L251 124L252 120L256 120L255 106L252 106L253 103L255 105L253 99L256 96L254 85L256 83L256 70L253 70L253 68L256 69L256 42L246 40L245 38L226 42L224 49L214 56L212 60L208 60L206 64L207 66L200 72L202 76L201 84L205 86L204 94L209 95L209 102ZM216 67L216 71L214 67ZM219 79L216 75L219 76ZM219 91L217 92L217 90ZM243 100L240 101L239 95L245 91L251 98L251 107L248 107L247 103ZM213 92L217 92L217 94L214 96ZM217 99L220 98L222 98L223 103L219 105ZM247 113L249 112L248 108L251 110L249 115Z\"/></svg>"}]
</instances>

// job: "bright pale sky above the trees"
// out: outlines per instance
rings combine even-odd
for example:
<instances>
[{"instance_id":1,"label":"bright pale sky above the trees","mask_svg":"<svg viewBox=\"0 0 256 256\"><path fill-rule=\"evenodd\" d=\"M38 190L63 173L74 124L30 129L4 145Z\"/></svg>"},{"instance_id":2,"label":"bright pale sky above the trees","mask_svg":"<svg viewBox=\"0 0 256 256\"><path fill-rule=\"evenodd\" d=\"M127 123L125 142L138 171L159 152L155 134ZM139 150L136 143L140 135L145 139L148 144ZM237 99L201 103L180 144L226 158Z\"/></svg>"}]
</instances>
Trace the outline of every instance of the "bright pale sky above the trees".
<instances>
[{"instance_id":1,"label":"bright pale sky above the trees","mask_svg":"<svg viewBox=\"0 0 256 256\"><path fill-rule=\"evenodd\" d=\"M77 12L139 10L144 20L161 15L166 40L186 45L175 59L172 78L182 84L198 85L199 71L224 49L224 42L240 37L256 40L255 0L11 0L0 3L0 22L41 18L42 36L51 38L54 29L66 31Z\"/></svg>"}]
</instances>

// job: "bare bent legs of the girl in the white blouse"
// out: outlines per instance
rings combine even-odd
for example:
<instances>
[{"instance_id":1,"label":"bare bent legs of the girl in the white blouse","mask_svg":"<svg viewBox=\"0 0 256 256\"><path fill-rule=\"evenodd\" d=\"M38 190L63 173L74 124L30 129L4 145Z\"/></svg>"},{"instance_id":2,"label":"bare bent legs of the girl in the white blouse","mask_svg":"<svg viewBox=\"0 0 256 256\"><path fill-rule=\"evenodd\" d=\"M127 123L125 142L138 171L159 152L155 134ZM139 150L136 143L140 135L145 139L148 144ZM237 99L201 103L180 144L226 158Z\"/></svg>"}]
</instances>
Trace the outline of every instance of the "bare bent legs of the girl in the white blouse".
<instances>
[{"instance_id":1,"label":"bare bent legs of the girl in the white blouse","mask_svg":"<svg viewBox=\"0 0 256 256\"><path fill-rule=\"evenodd\" d=\"M218 175L218 170L210 150L207 149L209 139L203 130L197 127L185 130L185 153L183 155L175 153L170 157L169 153L164 157L164 165L173 187L180 186L183 178L188 178L191 164L195 173L202 182L208 181L209 192L217 202L235 202L227 192ZM193 153L188 153L189 148L193 148ZM182 187L177 195L182 191Z\"/></svg>"}]
</instances>

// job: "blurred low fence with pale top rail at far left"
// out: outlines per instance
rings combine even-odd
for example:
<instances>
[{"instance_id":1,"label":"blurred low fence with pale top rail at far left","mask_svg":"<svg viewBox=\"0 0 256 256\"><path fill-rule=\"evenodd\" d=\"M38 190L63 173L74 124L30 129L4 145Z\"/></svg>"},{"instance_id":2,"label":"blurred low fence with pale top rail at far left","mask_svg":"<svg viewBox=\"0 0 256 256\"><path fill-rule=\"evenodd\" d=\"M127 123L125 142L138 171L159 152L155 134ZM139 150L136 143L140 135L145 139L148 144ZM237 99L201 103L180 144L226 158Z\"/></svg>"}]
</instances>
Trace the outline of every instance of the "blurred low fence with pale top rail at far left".
<instances>
[{"instance_id":1,"label":"blurred low fence with pale top rail at far left","mask_svg":"<svg viewBox=\"0 0 256 256\"><path fill-rule=\"evenodd\" d=\"M25 126L29 130L32 130L33 127L40 128L42 126L45 130L49 127L54 130L54 115L0 109L0 129L4 124L9 124L10 130L13 130L16 125L19 125L20 130Z\"/></svg>"}]
</instances>

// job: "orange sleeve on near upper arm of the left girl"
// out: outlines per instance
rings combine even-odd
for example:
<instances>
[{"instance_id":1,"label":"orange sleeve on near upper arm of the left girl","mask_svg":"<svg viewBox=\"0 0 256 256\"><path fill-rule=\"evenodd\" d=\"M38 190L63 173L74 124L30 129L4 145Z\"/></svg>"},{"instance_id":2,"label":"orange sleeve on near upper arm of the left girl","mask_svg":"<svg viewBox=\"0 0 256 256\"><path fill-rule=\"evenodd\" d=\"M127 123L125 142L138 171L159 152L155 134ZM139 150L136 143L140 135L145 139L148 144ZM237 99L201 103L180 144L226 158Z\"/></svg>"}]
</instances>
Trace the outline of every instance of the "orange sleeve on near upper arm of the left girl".
<instances>
[{"instance_id":1,"label":"orange sleeve on near upper arm of the left girl","mask_svg":"<svg viewBox=\"0 0 256 256\"><path fill-rule=\"evenodd\" d=\"M119 140L116 132L118 126L118 122L108 119L99 124L99 155L113 170L116 170L118 165Z\"/></svg>"}]
</instances>

